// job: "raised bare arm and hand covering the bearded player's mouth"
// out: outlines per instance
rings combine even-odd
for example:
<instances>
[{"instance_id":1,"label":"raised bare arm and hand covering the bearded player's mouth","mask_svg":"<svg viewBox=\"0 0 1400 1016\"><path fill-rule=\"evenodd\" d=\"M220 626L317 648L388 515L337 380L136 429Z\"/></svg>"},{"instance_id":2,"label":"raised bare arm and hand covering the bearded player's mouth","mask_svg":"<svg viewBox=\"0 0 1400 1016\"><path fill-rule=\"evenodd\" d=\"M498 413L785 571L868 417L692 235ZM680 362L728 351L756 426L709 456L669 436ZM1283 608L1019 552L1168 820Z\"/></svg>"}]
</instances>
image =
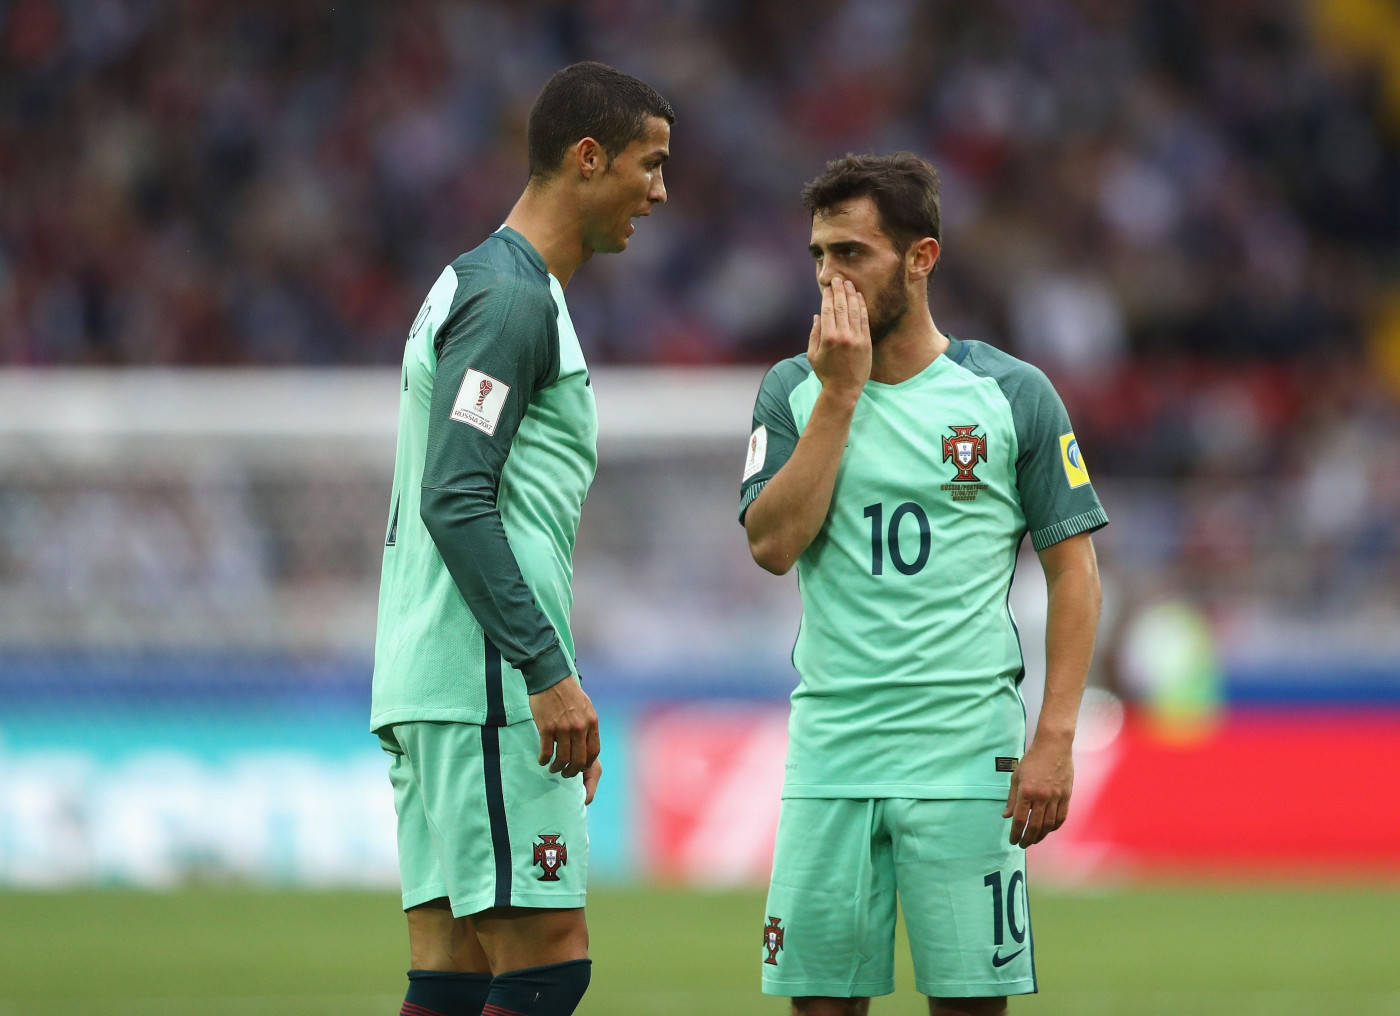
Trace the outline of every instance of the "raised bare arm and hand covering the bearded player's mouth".
<instances>
[{"instance_id":1,"label":"raised bare arm and hand covering the bearded player's mouth","mask_svg":"<svg viewBox=\"0 0 1400 1016\"><path fill-rule=\"evenodd\" d=\"M836 277L822 290L822 313L812 318L806 355L822 393L791 456L743 516L749 553L776 575L792 567L826 522L855 403L869 379L869 313L851 283Z\"/></svg>"}]
</instances>

